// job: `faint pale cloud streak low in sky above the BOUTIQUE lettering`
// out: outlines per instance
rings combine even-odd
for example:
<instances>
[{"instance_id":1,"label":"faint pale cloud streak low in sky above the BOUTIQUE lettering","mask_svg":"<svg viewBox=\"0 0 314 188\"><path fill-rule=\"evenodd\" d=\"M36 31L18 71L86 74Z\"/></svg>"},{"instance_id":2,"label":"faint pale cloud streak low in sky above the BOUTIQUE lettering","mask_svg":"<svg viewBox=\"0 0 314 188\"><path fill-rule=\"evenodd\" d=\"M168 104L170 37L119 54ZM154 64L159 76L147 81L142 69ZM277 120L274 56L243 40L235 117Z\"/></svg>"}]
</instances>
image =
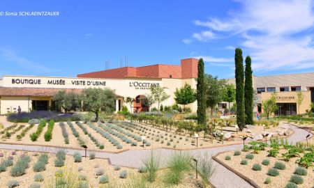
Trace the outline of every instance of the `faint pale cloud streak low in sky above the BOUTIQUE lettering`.
<instances>
[{"instance_id":1,"label":"faint pale cloud streak low in sky above the BOUTIQUE lettering","mask_svg":"<svg viewBox=\"0 0 314 188\"><path fill-rule=\"evenodd\" d=\"M0 47L0 58L2 61L10 62L10 65L19 65L22 68L35 72L54 71L51 68L46 68L43 65L38 65L37 63L29 61L27 58L19 56L13 49L10 49L10 47Z\"/></svg>"}]
</instances>

